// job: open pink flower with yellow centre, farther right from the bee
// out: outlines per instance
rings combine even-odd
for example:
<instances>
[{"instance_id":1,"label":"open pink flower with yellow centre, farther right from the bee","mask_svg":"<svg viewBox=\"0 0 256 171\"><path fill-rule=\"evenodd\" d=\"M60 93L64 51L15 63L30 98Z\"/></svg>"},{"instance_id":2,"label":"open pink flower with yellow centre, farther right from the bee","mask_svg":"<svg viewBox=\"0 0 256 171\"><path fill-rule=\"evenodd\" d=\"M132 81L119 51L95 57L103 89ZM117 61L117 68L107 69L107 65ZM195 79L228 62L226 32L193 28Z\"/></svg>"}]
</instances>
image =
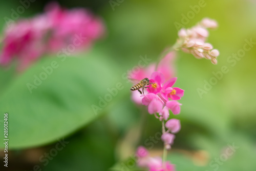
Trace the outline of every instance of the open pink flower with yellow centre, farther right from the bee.
<instances>
[{"instance_id":1,"label":"open pink flower with yellow centre, farther right from the bee","mask_svg":"<svg viewBox=\"0 0 256 171\"><path fill-rule=\"evenodd\" d=\"M184 90L177 87L172 88L176 80L177 78L175 77L169 79L167 82L164 83L161 94L165 100L168 100L168 98L172 100L180 100L181 97L184 95Z\"/></svg>"}]
</instances>

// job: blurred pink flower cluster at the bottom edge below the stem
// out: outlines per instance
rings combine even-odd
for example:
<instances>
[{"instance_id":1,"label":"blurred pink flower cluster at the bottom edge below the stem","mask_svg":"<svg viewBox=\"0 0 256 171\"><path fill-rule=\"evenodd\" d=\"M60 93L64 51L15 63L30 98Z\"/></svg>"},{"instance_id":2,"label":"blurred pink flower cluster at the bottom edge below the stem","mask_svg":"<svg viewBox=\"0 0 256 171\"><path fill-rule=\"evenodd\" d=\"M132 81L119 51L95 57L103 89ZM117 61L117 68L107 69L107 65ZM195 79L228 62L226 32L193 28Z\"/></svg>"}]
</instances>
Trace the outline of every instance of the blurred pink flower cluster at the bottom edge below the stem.
<instances>
[{"instance_id":1,"label":"blurred pink flower cluster at the bottom edge below the stem","mask_svg":"<svg viewBox=\"0 0 256 171\"><path fill-rule=\"evenodd\" d=\"M169 161L163 163L160 157L150 157L143 146L138 147L136 155L138 156L138 166L147 167L149 171L175 171L174 164L170 164Z\"/></svg>"}]
</instances>

